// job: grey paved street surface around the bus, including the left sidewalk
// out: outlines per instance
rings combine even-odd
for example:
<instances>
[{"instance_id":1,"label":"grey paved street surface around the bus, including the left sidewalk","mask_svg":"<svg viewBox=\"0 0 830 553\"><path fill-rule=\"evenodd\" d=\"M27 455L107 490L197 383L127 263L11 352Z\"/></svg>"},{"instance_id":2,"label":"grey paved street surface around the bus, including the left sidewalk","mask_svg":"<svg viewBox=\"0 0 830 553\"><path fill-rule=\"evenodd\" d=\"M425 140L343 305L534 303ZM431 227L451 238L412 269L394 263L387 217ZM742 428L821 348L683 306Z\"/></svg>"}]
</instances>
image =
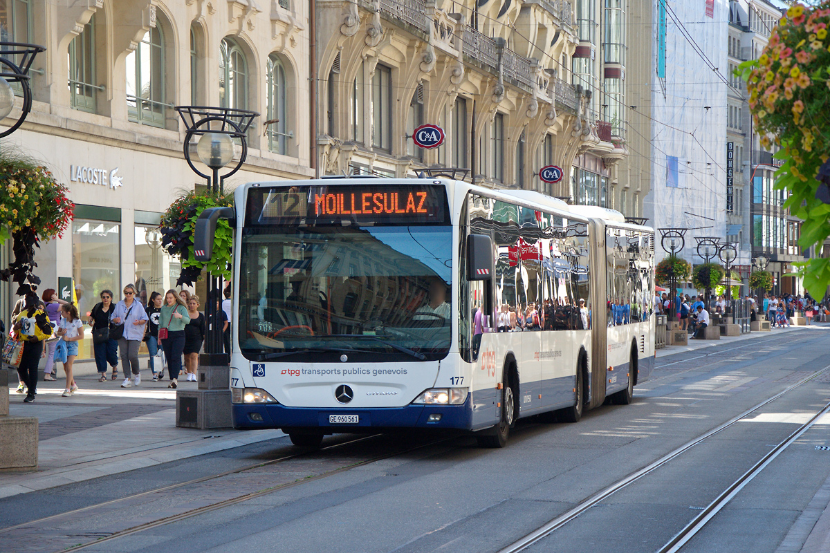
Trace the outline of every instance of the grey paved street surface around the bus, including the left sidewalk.
<instances>
[{"instance_id":1,"label":"grey paved street surface around the bus, including the left sidewalk","mask_svg":"<svg viewBox=\"0 0 830 553\"><path fill-rule=\"evenodd\" d=\"M830 370L804 381L830 366L830 327L669 353L632 405L579 424L520 421L499 450L341 435L303 453L278 431L173 429L173 398L159 384L107 391L90 381L73 398L52 385L32 405L12 397L13 415L41 417L41 472L0 476L0 551L500 551L787 390L524 550L660 551L830 402ZM830 551L825 446L830 415L681 551Z\"/></svg>"}]
</instances>

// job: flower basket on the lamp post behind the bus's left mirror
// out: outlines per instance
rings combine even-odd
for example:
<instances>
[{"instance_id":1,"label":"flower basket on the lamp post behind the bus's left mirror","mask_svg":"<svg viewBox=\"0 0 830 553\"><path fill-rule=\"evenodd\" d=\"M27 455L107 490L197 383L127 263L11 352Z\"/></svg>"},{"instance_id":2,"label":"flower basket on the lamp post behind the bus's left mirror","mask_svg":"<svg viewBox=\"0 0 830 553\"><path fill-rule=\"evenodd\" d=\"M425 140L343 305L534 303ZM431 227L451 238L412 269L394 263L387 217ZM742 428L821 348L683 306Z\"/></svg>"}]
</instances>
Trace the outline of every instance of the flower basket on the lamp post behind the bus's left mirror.
<instances>
[{"instance_id":1,"label":"flower basket on the lamp post behind the bus's left mirror","mask_svg":"<svg viewBox=\"0 0 830 553\"><path fill-rule=\"evenodd\" d=\"M161 218L161 245L168 255L178 256L182 260L182 272L178 275L176 285L193 285L202 271L207 269L214 276L231 278L233 248L233 230L227 221L220 219L213 236L213 252L207 263L197 261L193 255L193 230L196 220L208 207L225 207L233 205L233 196L202 195L188 192L168 207Z\"/></svg>"}]
</instances>

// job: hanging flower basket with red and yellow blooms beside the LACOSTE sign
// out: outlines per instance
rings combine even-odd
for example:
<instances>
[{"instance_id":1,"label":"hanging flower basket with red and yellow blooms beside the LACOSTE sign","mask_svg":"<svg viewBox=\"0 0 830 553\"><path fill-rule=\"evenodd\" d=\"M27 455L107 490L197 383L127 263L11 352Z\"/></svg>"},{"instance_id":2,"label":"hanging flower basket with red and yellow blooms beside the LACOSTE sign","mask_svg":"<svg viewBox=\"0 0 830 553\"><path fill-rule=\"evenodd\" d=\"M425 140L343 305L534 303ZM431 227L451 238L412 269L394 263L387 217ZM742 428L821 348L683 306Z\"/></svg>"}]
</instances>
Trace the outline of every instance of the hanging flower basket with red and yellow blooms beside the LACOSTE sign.
<instances>
[{"instance_id":1,"label":"hanging flower basket with red and yellow blooms beside the LACOSTE sign","mask_svg":"<svg viewBox=\"0 0 830 553\"><path fill-rule=\"evenodd\" d=\"M41 240L63 237L75 204L65 186L32 158L12 150L0 151L0 240L12 239L12 262L0 270L0 280L17 283L17 295L40 284L34 274L35 247Z\"/></svg>"}]
</instances>

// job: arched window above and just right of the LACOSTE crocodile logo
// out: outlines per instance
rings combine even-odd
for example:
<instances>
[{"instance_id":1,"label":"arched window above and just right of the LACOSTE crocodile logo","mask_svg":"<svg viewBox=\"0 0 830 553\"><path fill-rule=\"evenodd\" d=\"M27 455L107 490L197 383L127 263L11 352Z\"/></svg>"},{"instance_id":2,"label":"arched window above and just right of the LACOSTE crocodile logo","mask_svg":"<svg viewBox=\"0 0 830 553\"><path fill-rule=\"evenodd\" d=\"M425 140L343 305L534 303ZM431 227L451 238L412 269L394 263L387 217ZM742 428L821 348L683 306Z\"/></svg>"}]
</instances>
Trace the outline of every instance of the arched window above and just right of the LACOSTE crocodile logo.
<instances>
[{"instance_id":1,"label":"arched window above and just right of the LACOSTE crocodile logo","mask_svg":"<svg viewBox=\"0 0 830 553\"><path fill-rule=\"evenodd\" d=\"M163 127L166 107L164 35L154 27L127 55L127 112L130 121Z\"/></svg>"}]
</instances>

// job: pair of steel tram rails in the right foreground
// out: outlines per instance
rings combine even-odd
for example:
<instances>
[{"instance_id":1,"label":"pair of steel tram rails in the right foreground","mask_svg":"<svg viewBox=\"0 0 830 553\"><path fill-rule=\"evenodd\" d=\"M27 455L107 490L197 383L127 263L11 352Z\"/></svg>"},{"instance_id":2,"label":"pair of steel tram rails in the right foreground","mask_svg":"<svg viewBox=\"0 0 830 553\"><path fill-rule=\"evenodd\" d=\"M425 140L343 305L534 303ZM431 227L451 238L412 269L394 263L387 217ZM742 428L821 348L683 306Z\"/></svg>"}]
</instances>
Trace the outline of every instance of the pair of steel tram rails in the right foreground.
<instances>
[{"instance_id":1,"label":"pair of steel tram rails in the right foreground","mask_svg":"<svg viewBox=\"0 0 830 553\"><path fill-rule=\"evenodd\" d=\"M701 444L706 439L715 436L715 434L720 434L720 432L724 431L725 429L730 428L732 425L740 422L741 420L745 420L749 415L754 414L756 411L762 409L764 406L769 405L774 400L778 400L779 398L783 397L784 395L788 394L790 391L795 390L796 388L803 386L804 384L808 383L809 381L813 381L813 379L821 376L825 373L830 371L830 365L819 369L818 371L814 371L809 376L805 376L798 382L795 382L793 385L788 386L784 390L779 391L775 395L770 396L769 398L759 402L756 405L753 405L748 410L740 413L740 415L736 415L735 417L727 420L725 423L719 424L714 429L710 429L704 434L697 436L694 439L686 442L686 444L682 444L680 447L671 450L669 453L663 455L661 458L653 461L652 463L647 464L645 467L640 468L639 470L628 474L626 477L619 479L617 482L611 484L607 488L604 488L600 492L593 494L592 496L588 497L587 499L583 500L583 502L579 502L578 505L569 509L569 511L564 512L563 514L555 517L554 519L545 522L543 525L536 528L534 531L529 532L525 536L522 536L519 540L513 541L510 545L503 547L498 551L498 553L519 553L520 551L526 551L531 546L534 546L536 543L542 541L547 536L550 536L554 533L554 531L559 530L563 526L569 524L571 521L577 519L580 515L585 512L588 512L592 507L598 506L601 502L608 499L608 497L613 496L614 493L619 492L623 488L626 488L632 483L637 482L641 478L646 477L648 474L657 470L657 468L661 468L662 466L666 465L666 463L671 463L671 461L675 460L676 458L681 457L681 455L685 454L690 449L696 447L696 445ZM764 467L766 467L775 457L777 457L784 449L787 449L790 444L792 444L798 437L800 437L804 432L806 432L815 422L818 420L822 415L830 412L830 404L825 405L823 409L818 410L818 412L813 415L810 420L799 426L792 434L780 441L779 444L776 444L774 449L771 449L768 454L764 455L757 463L754 464L752 468L750 468L746 473L744 473L740 478L735 480L728 488L725 489L724 492L721 492L720 495L715 498L715 501L711 502L709 506L705 507L701 513L695 517L691 522L689 522L683 530L678 532L676 536L672 537L670 541L666 543L657 553L676 553L679 551L681 546L683 546L686 541L689 541L698 531L706 526L706 522L710 521L712 517L717 514L725 505L730 502L732 497L735 497L735 494L740 492L740 489L744 488L749 481L754 478L758 473L760 473Z\"/></svg>"}]
</instances>

